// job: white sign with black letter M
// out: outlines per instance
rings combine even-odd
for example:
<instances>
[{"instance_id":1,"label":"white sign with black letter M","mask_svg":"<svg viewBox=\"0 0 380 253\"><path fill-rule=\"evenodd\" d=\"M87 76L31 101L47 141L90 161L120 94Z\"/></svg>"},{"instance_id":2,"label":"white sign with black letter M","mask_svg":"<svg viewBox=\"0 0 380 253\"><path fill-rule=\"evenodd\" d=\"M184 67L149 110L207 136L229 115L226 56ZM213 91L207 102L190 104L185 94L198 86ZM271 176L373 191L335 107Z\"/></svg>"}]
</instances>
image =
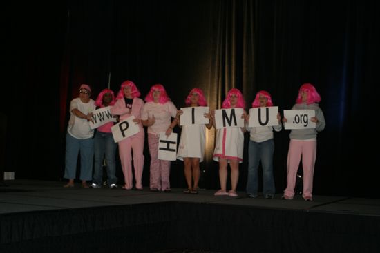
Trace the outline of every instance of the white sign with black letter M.
<instances>
[{"instance_id":1,"label":"white sign with black letter M","mask_svg":"<svg viewBox=\"0 0 380 253\"><path fill-rule=\"evenodd\" d=\"M243 128L244 119L242 115L243 108L229 108L215 110L215 125L216 129L220 128Z\"/></svg>"}]
</instances>

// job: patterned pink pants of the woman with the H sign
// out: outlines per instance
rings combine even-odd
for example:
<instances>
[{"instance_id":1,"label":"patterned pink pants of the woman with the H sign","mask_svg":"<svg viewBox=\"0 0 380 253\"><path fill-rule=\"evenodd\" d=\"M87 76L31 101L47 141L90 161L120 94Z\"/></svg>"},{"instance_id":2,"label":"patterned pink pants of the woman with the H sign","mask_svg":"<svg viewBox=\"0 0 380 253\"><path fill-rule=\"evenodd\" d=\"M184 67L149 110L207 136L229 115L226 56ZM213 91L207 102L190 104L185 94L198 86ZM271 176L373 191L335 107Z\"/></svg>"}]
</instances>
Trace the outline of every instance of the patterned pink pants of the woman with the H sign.
<instances>
[{"instance_id":1,"label":"patterned pink pants of the woman with the H sign","mask_svg":"<svg viewBox=\"0 0 380 253\"><path fill-rule=\"evenodd\" d=\"M158 140L159 135L148 134L149 154L151 154L151 189L158 190L170 189L170 161L158 159Z\"/></svg>"}]
</instances>

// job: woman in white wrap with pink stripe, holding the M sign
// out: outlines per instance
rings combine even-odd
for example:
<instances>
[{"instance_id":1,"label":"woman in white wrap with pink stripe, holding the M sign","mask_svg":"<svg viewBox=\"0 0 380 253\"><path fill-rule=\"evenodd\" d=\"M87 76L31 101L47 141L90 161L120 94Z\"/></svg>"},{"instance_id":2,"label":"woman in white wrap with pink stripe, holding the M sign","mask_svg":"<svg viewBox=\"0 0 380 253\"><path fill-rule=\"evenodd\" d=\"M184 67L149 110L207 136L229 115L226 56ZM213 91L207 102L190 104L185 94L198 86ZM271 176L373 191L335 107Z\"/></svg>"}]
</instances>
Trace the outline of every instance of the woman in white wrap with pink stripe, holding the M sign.
<instances>
[{"instance_id":1,"label":"woman in white wrap with pink stripe, holding the M sign","mask_svg":"<svg viewBox=\"0 0 380 253\"><path fill-rule=\"evenodd\" d=\"M227 93L227 98L222 103L222 108L245 108L245 101L240 90L232 88ZM215 111L212 112L215 116ZM241 115L245 119L245 112ZM213 118L215 125L216 119ZM219 162L220 190L215 196L238 196L236 187L239 179L239 163L243 162L245 127L226 127L216 129L216 143L213 152L213 160ZM227 192L227 165L231 168L231 190Z\"/></svg>"}]
</instances>

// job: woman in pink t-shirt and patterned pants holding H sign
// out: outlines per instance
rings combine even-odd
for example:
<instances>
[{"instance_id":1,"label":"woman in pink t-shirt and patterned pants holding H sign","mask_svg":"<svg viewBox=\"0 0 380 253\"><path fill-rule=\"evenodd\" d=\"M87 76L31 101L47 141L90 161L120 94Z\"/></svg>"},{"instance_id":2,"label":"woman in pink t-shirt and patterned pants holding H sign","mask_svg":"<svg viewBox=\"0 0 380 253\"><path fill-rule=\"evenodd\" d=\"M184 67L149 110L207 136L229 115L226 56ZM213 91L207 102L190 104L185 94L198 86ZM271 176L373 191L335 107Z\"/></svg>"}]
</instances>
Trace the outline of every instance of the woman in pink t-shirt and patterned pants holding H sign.
<instances>
[{"instance_id":1,"label":"woman in pink t-shirt and patterned pants holding H sign","mask_svg":"<svg viewBox=\"0 0 380 253\"><path fill-rule=\"evenodd\" d=\"M170 192L170 161L158 159L160 132L169 136L177 125L177 108L170 101L162 84L155 84L145 97L142 124L148 127L148 145L151 155L151 191ZM171 121L171 118L175 118Z\"/></svg>"}]
</instances>

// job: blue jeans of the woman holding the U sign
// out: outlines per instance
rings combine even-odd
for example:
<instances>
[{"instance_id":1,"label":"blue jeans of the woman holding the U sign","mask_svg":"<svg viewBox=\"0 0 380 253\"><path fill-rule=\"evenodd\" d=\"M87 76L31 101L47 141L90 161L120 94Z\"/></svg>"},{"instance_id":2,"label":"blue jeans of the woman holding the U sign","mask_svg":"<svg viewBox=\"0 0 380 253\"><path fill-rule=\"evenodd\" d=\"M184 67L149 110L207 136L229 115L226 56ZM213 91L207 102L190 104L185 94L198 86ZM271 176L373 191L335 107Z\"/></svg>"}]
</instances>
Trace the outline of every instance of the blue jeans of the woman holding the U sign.
<instances>
[{"instance_id":1,"label":"blue jeans of the woman holding the U sign","mask_svg":"<svg viewBox=\"0 0 380 253\"><path fill-rule=\"evenodd\" d=\"M249 141L248 146L248 179L247 179L247 193L258 194L258 164L261 160L263 168L263 194L274 195L276 189L274 188L273 178L273 154L274 154L274 141L269 139L263 142Z\"/></svg>"}]
</instances>

